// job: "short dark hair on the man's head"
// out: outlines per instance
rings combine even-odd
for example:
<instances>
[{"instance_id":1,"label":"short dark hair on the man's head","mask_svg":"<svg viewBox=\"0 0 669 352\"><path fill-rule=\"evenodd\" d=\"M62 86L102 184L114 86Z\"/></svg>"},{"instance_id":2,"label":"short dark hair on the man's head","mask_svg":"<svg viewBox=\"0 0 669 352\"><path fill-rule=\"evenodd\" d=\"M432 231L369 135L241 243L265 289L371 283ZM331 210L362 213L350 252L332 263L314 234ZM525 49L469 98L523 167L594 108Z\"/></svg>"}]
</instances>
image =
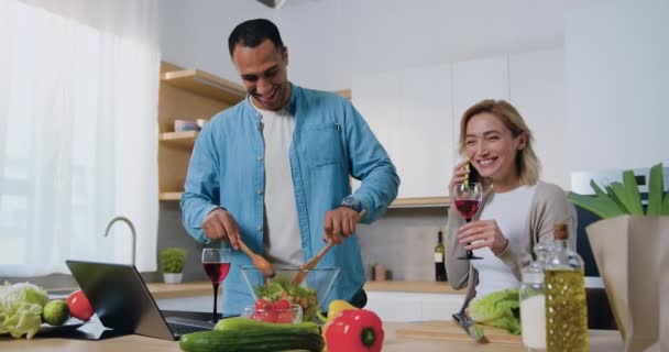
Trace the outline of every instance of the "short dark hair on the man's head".
<instances>
[{"instance_id":1,"label":"short dark hair on the man's head","mask_svg":"<svg viewBox=\"0 0 669 352\"><path fill-rule=\"evenodd\" d=\"M238 44L245 47L256 47L263 41L270 40L278 50L284 50L284 42L281 40L278 29L272 21L265 19L249 20L238 24L228 37L228 50L230 57Z\"/></svg>"}]
</instances>

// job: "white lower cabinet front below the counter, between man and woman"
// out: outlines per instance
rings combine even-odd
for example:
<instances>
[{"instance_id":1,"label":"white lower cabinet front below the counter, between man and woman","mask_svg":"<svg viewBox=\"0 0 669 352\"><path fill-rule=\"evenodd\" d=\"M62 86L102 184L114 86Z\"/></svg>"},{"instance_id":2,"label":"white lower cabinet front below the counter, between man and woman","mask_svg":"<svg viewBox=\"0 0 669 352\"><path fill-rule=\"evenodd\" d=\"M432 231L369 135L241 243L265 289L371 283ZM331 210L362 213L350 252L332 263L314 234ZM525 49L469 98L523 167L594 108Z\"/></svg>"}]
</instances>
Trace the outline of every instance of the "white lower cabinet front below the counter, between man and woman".
<instances>
[{"instance_id":1,"label":"white lower cabinet front below the counter, between man and woman","mask_svg":"<svg viewBox=\"0 0 669 352\"><path fill-rule=\"evenodd\" d=\"M464 295L366 292L365 309L383 321L450 320L460 310Z\"/></svg>"}]
</instances>

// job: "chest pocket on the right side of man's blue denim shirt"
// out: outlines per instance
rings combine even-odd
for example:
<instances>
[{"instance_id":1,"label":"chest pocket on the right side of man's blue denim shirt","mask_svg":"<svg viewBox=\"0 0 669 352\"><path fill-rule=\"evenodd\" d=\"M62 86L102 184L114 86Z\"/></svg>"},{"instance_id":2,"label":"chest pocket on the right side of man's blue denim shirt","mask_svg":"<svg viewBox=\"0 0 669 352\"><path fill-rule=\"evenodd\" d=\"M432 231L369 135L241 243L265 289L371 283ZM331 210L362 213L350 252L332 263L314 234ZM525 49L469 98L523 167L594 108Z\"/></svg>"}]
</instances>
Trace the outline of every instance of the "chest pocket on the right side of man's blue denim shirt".
<instances>
[{"instance_id":1,"label":"chest pocket on the right side of man's blue denim shirt","mask_svg":"<svg viewBox=\"0 0 669 352\"><path fill-rule=\"evenodd\" d=\"M301 139L305 154L315 166L341 164L344 161L343 143L339 123L314 123L305 125Z\"/></svg>"}]
</instances>

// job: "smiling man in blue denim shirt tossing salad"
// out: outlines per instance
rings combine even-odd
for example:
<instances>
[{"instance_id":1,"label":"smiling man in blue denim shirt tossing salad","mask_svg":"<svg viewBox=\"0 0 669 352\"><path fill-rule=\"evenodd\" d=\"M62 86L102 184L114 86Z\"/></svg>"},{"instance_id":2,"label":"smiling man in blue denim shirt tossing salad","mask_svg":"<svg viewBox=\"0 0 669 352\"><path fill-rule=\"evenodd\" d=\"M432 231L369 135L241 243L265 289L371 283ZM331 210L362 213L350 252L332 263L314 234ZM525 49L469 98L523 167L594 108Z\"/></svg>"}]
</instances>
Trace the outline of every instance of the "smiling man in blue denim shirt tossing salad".
<instances>
[{"instance_id":1,"label":"smiling man in blue denim shirt tossing salad","mask_svg":"<svg viewBox=\"0 0 669 352\"><path fill-rule=\"evenodd\" d=\"M248 97L216 114L196 140L180 202L185 228L197 241L223 240L237 250L242 240L292 265L333 241L339 245L319 266L341 272L323 306L332 299L364 305L364 268L352 234L362 210L361 221L370 223L395 199L394 165L347 99L288 81L288 52L272 22L239 24L228 45ZM353 195L350 177L362 180ZM251 260L232 251L226 314L253 304L240 265Z\"/></svg>"}]
</instances>

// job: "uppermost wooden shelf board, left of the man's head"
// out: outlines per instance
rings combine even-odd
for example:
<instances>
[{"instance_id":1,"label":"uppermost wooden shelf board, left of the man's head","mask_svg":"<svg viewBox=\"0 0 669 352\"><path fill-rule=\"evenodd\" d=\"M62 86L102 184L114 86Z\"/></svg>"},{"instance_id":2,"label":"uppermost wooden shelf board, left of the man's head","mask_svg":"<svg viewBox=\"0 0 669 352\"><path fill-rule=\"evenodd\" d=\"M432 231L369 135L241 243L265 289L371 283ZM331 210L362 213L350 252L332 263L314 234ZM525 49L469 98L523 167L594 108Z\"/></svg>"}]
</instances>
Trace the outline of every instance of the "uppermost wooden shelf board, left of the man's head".
<instances>
[{"instance_id":1,"label":"uppermost wooden shelf board, left of the man's head","mask_svg":"<svg viewBox=\"0 0 669 352\"><path fill-rule=\"evenodd\" d=\"M229 105L246 97L242 86L199 69L166 72L161 75L161 81Z\"/></svg>"}]
</instances>

